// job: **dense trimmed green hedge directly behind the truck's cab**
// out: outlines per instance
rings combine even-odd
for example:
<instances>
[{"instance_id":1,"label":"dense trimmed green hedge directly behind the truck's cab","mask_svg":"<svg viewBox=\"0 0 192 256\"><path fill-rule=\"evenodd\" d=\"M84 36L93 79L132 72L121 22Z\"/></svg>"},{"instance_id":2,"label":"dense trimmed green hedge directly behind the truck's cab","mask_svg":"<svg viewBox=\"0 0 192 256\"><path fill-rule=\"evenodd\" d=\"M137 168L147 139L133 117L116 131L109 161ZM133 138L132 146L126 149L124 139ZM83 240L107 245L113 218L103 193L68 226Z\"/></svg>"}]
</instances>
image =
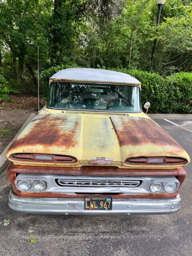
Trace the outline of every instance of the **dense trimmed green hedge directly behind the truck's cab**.
<instances>
[{"instance_id":1,"label":"dense trimmed green hedge directly behind the truck's cab","mask_svg":"<svg viewBox=\"0 0 192 256\"><path fill-rule=\"evenodd\" d=\"M58 70L74 68L63 65L49 68L41 73L42 94L46 96L48 78ZM192 73L178 72L165 78L157 73L126 68L111 70L130 74L142 84L142 106L150 102L150 113L192 113Z\"/></svg>"}]
</instances>

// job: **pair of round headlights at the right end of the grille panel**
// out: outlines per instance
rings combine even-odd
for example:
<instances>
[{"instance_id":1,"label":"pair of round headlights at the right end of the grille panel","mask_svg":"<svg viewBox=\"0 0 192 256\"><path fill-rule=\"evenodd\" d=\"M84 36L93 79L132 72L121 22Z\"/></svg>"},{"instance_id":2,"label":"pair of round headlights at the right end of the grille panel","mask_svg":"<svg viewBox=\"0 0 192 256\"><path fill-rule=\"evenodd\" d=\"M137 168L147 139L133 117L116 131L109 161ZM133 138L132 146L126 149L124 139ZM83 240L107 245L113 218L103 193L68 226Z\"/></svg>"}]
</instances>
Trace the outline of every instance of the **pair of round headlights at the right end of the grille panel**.
<instances>
[{"instance_id":1,"label":"pair of round headlights at the right end of the grille panel","mask_svg":"<svg viewBox=\"0 0 192 256\"><path fill-rule=\"evenodd\" d=\"M162 182L153 182L150 184L149 189L152 193L166 192L168 194L172 194L178 189L178 187L179 183L177 182L166 182L165 184Z\"/></svg>"}]
</instances>

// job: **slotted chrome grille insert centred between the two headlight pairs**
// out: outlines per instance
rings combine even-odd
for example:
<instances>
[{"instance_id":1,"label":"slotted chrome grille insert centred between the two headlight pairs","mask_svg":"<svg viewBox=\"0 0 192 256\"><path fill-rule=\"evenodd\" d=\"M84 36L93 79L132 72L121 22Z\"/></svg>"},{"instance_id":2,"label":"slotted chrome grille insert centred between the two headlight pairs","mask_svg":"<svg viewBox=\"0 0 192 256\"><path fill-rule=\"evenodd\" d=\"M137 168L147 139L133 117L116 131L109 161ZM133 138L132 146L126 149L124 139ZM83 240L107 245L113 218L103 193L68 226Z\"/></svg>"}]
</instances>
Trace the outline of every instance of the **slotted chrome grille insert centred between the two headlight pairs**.
<instances>
[{"instance_id":1,"label":"slotted chrome grille insert centred between the two headlight pairs","mask_svg":"<svg viewBox=\"0 0 192 256\"><path fill-rule=\"evenodd\" d=\"M56 179L59 186L70 187L133 187L140 184L140 180L88 180L88 179Z\"/></svg>"}]
</instances>

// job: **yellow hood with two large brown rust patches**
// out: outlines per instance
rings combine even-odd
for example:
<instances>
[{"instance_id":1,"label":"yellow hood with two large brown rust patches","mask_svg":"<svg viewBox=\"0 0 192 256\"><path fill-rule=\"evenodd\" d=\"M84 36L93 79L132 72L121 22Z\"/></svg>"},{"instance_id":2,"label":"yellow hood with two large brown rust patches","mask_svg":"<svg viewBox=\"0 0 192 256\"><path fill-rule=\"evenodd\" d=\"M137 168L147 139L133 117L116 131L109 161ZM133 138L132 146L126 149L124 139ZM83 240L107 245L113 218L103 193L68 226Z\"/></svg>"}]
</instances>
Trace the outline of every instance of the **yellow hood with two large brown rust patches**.
<instances>
[{"instance_id":1,"label":"yellow hood with two large brown rust patches","mask_svg":"<svg viewBox=\"0 0 192 256\"><path fill-rule=\"evenodd\" d=\"M78 160L73 166L88 165L96 157L112 158L111 165L121 168L128 167L124 161L130 157L174 156L190 161L150 118L93 114L38 114L10 146L7 157L14 153L73 156Z\"/></svg>"}]
</instances>

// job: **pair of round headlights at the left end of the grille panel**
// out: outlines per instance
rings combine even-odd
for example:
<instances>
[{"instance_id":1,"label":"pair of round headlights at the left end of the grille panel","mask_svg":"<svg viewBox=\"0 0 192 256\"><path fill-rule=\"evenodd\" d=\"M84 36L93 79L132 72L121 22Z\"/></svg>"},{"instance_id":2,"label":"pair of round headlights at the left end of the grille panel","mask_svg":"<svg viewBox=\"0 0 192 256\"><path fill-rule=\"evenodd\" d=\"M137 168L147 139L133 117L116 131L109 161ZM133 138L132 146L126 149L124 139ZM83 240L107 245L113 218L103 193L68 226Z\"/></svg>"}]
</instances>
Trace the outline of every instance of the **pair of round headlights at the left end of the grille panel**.
<instances>
[{"instance_id":1,"label":"pair of round headlights at the left end of the grille panel","mask_svg":"<svg viewBox=\"0 0 192 256\"><path fill-rule=\"evenodd\" d=\"M47 182L44 180L35 180L34 182L31 182L30 180L18 180L17 188L22 192L26 192L31 188L34 188L34 190L41 192L46 190Z\"/></svg>"}]
</instances>

